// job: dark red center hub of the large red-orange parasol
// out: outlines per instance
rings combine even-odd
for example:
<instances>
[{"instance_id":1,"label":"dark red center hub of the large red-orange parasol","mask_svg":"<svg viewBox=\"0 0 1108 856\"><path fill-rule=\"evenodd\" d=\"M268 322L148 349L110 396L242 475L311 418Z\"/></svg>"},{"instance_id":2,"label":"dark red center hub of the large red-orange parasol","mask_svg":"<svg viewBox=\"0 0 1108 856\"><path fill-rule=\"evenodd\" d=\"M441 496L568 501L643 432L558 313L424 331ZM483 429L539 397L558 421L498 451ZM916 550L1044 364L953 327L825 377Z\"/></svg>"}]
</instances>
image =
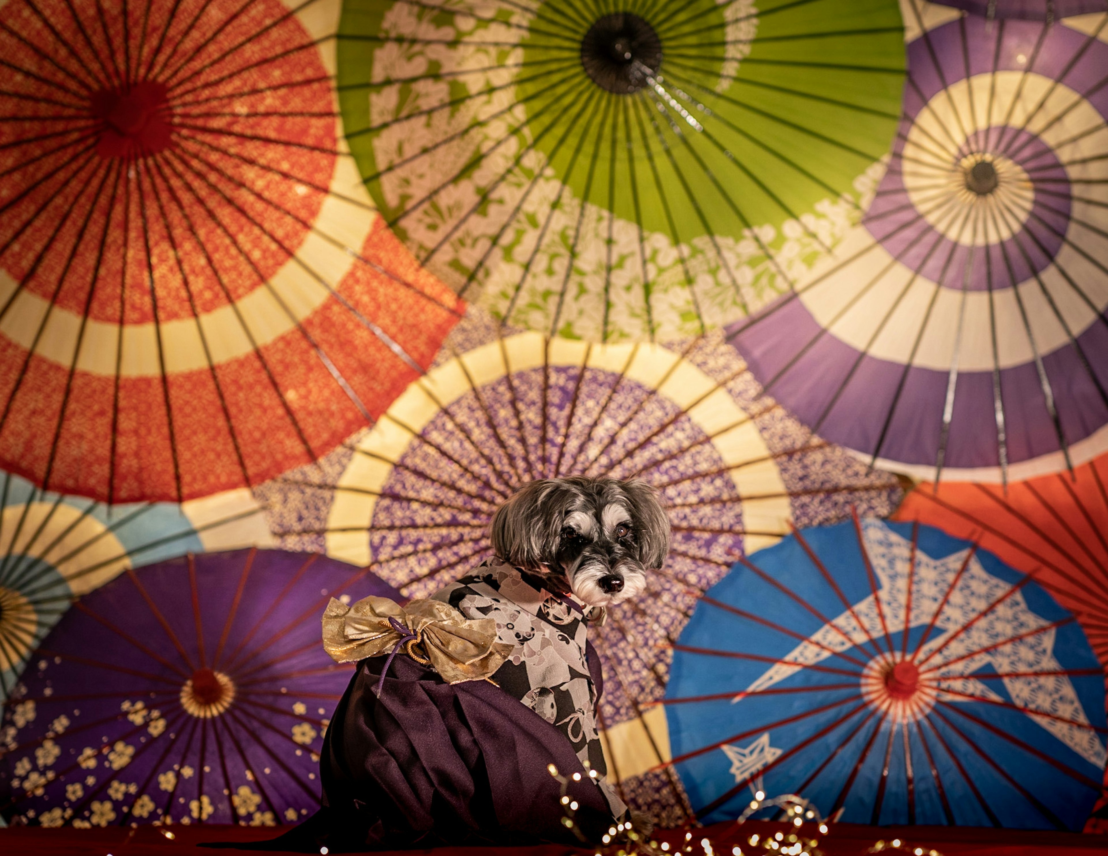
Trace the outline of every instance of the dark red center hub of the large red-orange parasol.
<instances>
[{"instance_id":1,"label":"dark red center hub of the large red-orange parasol","mask_svg":"<svg viewBox=\"0 0 1108 856\"><path fill-rule=\"evenodd\" d=\"M142 81L92 94L101 157L145 157L173 145L173 114L164 83Z\"/></svg>"}]
</instances>

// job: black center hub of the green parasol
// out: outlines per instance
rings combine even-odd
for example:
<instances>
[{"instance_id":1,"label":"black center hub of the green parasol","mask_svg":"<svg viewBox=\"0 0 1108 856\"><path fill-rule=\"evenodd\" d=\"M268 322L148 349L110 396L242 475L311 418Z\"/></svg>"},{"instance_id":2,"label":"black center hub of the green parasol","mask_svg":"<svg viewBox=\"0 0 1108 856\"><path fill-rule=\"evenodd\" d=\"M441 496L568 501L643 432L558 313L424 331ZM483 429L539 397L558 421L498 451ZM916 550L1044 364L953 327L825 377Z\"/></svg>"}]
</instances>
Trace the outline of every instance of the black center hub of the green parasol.
<instances>
[{"instance_id":1,"label":"black center hub of the green parasol","mask_svg":"<svg viewBox=\"0 0 1108 856\"><path fill-rule=\"evenodd\" d=\"M661 40L644 19L628 12L599 18L581 40L581 64L601 89L635 92L661 65Z\"/></svg>"}]
</instances>

